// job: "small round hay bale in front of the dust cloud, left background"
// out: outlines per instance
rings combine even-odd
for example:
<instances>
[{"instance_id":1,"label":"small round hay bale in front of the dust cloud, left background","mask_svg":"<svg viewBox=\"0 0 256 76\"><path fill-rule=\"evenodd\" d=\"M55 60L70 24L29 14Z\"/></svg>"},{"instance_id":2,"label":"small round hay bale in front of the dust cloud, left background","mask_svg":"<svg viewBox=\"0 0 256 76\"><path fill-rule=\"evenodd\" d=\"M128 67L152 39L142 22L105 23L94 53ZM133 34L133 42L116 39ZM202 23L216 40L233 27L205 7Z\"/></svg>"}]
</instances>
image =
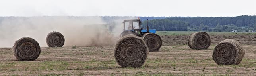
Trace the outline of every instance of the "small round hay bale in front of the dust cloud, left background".
<instances>
[{"instance_id":1,"label":"small round hay bale in front of the dust cloud, left background","mask_svg":"<svg viewBox=\"0 0 256 76\"><path fill-rule=\"evenodd\" d=\"M59 32L50 32L46 37L46 44L49 47L62 47L64 42L64 36Z\"/></svg>"}]
</instances>

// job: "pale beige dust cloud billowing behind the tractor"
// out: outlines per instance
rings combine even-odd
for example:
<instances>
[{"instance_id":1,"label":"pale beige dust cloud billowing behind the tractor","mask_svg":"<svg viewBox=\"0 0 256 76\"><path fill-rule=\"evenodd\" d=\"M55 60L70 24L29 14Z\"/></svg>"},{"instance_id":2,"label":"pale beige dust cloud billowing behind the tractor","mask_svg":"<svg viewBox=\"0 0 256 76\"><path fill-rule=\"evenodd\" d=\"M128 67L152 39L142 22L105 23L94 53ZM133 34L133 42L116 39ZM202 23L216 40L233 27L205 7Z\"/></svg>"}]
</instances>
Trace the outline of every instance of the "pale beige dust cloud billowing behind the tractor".
<instances>
[{"instance_id":1,"label":"pale beige dust cloud billowing behind the tractor","mask_svg":"<svg viewBox=\"0 0 256 76\"><path fill-rule=\"evenodd\" d=\"M47 47L45 38L52 31L64 35L64 46L113 46L123 30L122 21L108 25L101 17L5 17L0 22L0 47L12 47L22 37Z\"/></svg>"}]
</instances>

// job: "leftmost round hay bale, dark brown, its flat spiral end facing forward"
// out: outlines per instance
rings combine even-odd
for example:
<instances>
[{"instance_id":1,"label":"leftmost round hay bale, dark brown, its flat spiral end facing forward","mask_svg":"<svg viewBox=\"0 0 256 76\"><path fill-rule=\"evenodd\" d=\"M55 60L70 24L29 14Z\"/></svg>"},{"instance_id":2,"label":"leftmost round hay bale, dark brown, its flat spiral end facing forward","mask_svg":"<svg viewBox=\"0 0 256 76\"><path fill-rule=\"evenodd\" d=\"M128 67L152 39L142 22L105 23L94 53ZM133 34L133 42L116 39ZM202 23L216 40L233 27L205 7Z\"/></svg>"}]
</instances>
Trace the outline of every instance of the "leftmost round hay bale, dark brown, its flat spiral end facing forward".
<instances>
[{"instance_id":1,"label":"leftmost round hay bale, dark brown, its flat spiral end facing forward","mask_svg":"<svg viewBox=\"0 0 256 76\"><path fill-rule=\"evenodd\" d=\"M39 57L41 52L37 41L30 37L23 37L15 41L13 50L14 56L19 61L33 61Z\"/></svg>"}]
</instances>

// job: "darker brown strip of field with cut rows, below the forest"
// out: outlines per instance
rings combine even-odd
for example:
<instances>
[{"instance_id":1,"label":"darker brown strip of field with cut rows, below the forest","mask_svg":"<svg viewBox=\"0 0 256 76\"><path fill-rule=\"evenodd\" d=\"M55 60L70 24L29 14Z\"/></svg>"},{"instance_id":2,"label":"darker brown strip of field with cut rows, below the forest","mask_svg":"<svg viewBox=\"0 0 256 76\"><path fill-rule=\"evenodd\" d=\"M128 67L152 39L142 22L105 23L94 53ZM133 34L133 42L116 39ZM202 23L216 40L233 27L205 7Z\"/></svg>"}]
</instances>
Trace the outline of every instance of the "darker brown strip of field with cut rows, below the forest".
<instances>
[{"instance_id":1,"label":"darker brown strip of field with cut rows, below the forest","mask_svg":"<svg viewBox=\"0 0 256 76\"><path fill-rule=\"evenodd\" d=\"M161 38L163 40L163 46L188 45L188 37L190 34L188 33L185 35L161 35ZM211 36L211 44L214 45L225 39L235 39L242 45L256 44L256 33L226 33L217 35L215 33L208 34Z\"/></svg>"}]
</instances>

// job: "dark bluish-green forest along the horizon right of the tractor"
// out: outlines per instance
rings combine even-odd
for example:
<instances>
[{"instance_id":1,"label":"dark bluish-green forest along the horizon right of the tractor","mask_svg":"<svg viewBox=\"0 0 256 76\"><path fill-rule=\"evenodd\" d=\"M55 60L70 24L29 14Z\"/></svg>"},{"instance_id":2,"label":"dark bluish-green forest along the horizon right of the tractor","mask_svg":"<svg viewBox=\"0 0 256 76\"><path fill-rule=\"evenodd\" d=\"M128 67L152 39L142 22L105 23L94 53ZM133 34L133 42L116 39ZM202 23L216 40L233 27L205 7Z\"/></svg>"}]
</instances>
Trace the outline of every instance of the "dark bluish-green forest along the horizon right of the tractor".
<instances>
[{"instance_id":1,"label":"dark bluish-green forest along the horizon right of the tractor","mask_svg":"<svg viewBox=\"0 0 256 76\"><path fill-rule=\"evenodd\" d=\"M146 21L142 24L145 27ZM252 32L256 29L256 16L168 17L149 20L149 28L159 31Z\"/></svg>"}]
</instances>

